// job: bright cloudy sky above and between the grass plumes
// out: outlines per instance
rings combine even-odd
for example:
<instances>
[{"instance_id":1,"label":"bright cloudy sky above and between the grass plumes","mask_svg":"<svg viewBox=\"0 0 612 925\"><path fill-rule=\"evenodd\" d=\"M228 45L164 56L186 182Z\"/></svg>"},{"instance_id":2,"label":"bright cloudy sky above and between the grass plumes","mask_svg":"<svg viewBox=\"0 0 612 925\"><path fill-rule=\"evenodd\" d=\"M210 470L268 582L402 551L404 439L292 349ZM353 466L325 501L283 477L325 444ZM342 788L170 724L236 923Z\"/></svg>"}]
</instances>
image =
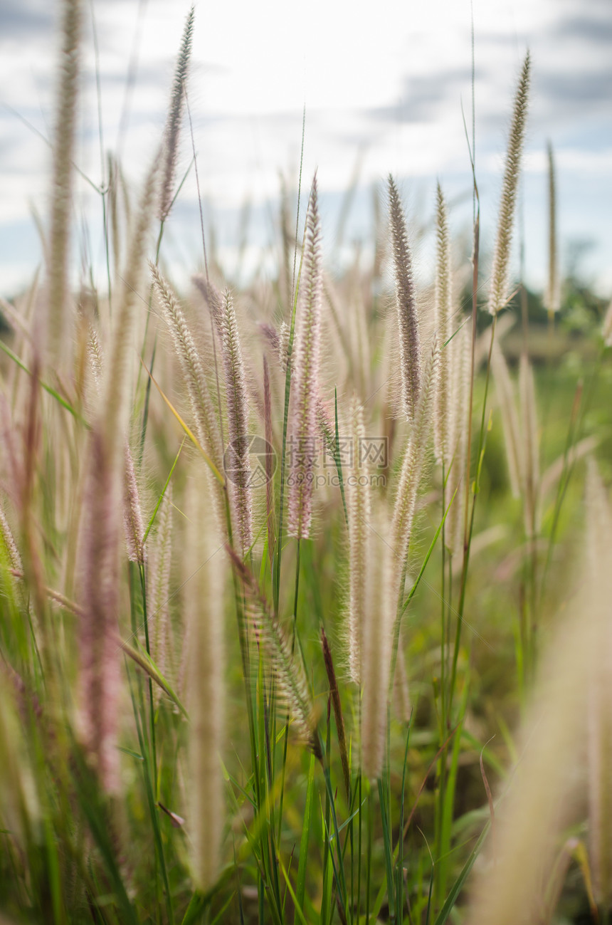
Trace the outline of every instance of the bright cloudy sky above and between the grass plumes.
<instances>
[{"instance_id":1,"label":"bright cloudy sky above and between the grass plumes","mask_svg":"<svg viewBox=\"0 0 612 925\"><path fill-rule=\"evenodd\" d=\"M33 216L47 226L60 6L48 0L0 5L4 296L27 285L42 260ZM103 179L102 126L102 148L118 152L137 194L163 131L189 6L183 0L83 3L76 163L94 186ZM512 95L529 48L532 95L516 236L518 241L520 228L526 279L536 289L545 286L550 141L561 269L580 272L602 295L612 295L611 0L196 3L189 83L193 140L206 228L214 225L228 276L238 265L245 203L250 220L243 273L274 259L279 178L286 178L295 201L304 107L302 184L307 192L316 169L332 269L357 241L367 246L373 187L382 190L389 172L398 179L411 228L431 228L440 181L457 259L465 257L471 166L463 119L471 135L472 11L484 257L493 246ZM189 125L185 129L181 172L192 157ZM340 234L344 195L353 184ZM75 273L85 249L97 273L104 262L101 196L85 179L77 183L75 220ZM415 252L417 276L426 279L433 262L426 234L416 240ZM202 262L192 166L167 224L163 256L178 279L188 279Z\"/></svg>"}]
</instances>

